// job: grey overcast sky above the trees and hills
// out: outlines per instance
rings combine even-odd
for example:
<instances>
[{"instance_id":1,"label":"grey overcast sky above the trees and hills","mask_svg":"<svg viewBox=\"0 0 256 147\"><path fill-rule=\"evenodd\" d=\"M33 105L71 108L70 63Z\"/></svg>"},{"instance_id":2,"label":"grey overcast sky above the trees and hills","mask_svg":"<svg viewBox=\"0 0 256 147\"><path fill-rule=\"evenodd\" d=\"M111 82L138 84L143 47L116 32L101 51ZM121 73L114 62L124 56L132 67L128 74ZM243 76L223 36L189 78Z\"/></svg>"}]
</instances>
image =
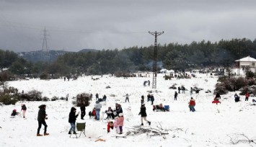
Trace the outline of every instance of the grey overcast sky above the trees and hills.
<instances>
[{"instance_id":1,"label":"grey overcast sky above the trees and hills","mask_svg":"<svg viewBox=\"0 0 256 147\"><path fill-rule=\"evenodd\" d=\"M0 0L0 48L123 49L256 38L255 0Z\"/></svg>"}]
</instances>

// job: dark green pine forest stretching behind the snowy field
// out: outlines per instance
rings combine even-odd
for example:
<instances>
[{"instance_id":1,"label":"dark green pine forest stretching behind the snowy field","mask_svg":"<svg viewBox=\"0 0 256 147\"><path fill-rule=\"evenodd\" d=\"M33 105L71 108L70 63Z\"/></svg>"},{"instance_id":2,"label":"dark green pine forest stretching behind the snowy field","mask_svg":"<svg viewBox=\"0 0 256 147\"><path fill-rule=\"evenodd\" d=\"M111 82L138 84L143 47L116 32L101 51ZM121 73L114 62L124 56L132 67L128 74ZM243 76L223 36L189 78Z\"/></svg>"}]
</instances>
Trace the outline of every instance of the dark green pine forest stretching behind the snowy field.
<instances>
[{"instance_id":1,"label":"dark green pine forest stretching behind the snowy field","mask_svg":"<svg viewBox=\"0 0 256 147\"><path fill-rule=\"evenodd\" d=\"M190 44L169 43L157 46L158 69L187 70L208 66L233 66L234 61L250 55L256 57L256 40L246 38L220 40L212 43L202 40ZM14 75L101 75L117 71L151 71L154 46L99 50L87 53L65 53L52 63L31 63L9 50L0 50L0 68L9 68Z\"/></svg>"}]
</instances>

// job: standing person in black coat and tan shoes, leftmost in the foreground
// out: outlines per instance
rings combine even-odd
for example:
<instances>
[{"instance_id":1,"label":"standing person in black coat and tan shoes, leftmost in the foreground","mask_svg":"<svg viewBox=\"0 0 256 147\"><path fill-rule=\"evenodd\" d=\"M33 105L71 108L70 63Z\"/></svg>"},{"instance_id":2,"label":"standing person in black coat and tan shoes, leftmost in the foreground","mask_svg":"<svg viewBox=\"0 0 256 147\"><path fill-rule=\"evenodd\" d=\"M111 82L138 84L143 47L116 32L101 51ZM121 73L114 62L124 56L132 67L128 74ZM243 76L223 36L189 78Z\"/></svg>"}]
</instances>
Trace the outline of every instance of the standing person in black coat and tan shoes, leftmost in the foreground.
<instances>
[{"instance_id":1,"label":"standing person in black coat and tan shoes, leftmost in the foreground","mask_svg":"<svg viewBox=\"0 0 256 147\"><path fill-rule=\"evenodd\" d=\"M41 136L40 135L40 129L42 127L42 124L45 126L45 131L44 131L44 135L49 135L49 133L47 132L47 124L45 123L45 120L47 120L47 114L45 112L46 109L46 105L42 104L39 106L39 111L38 111L38 115L37 115L37 121L38 121L38 128L37 128L37 136Z\"/></svg>"}]
</instances>

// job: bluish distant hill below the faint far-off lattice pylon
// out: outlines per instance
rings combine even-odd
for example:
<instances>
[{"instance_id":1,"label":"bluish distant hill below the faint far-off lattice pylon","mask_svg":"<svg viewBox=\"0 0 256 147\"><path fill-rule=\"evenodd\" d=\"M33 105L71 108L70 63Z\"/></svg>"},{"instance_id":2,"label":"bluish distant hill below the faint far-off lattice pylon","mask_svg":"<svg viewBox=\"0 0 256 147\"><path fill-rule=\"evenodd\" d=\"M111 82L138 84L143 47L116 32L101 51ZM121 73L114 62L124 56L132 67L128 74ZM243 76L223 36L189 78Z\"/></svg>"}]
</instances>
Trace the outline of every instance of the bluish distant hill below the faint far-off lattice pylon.
<instances>
[{"instance_id":1,"label":"bluish distant hill below the faint far-off lattice pylon","mask_svg":"<svg viewBox=\"0 0 256 147\"><path fill-rule=\"evenodd\" d=\"M70 53L69 51L64 50L49 50L42 51L30 51L30 52L19 52L17 53L22 58L25 58L27 61L37 62L37 61L48 61L53 62L56 61L58 55L63 55L64 53Z\"/></svg>"}]
</instances>

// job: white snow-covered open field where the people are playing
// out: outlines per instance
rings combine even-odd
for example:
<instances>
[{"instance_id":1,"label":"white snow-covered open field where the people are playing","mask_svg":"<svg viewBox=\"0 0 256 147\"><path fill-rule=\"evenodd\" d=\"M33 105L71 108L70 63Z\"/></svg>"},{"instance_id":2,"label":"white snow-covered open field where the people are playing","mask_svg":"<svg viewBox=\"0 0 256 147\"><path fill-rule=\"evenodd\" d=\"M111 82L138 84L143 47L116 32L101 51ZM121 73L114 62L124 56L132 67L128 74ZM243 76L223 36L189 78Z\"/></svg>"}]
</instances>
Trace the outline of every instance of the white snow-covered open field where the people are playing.
<instances>
[{"instance_id":1,"label":"white snow-covered open field where the people are playing","mask_svg":"<svg viewBox=\"0 0 256 147\"><path fill-rule=\"evenodd\" d=\"M91 76L79 77L76 81L64 81L56 79L44 81L39 79L30 79L28 81L10 81L9 86L28 92L36 89L43 92L46 97L66 97L69 94L69 102L17 102L15 105L0 107L0 146L256 146L255 143L238 143L233 145L230 137L233 139L244 139L237 134L247 135L248 138L256 138L255 128L255 106L252 106L252 97L249 102L234 102L234 92L221 96L221 104L211 104L213 93L206 94L205 91L210 89L213 92L217 82L215 76L210 77L206 74L196 74L197 78L193 79L172 79L165 81L162 76L157 76L157 92L153 90L155 102L169 104L170 112L153 112L150 103L146 103L147 119L151 121L151 127L157 128L161 124L162 128L169 130L167 139L161 136L149 137L146 134L128 136L127 138L115 138L115 131L107 134L107 120L89 119L88 112L92 110L95 104L93 97L92 104L87 107L85 120L78 117L77 122L86 122L87 137L69 138L68 123L69 111L72 107L71 97L76 94L86 92L95 95L104 94L107 96L107 102L102 102L102 111L107 107L115 107L118 102L122 105L124 111L124 128L126 133L134 125L141 124L141 117L138 115L140 110L141 95L149 94L151 86L143 86L144 81L152 80L152 75L147 78L115 78L111 76L100 77L99 80L93 81ZM152 82L151 82L152 83ZM195 98L196 112L190 112L187 103L190 100L190 92L179 94L177 101L174 101L175 90L169 89L172 84L177 86L184 85L186 89L190 86L203 88L199 94L193 94ZM110 86L110 89L106 89ZM130 103L125 103L125 94L131 94ZM115 97L110 97L115 95ZM18 112L21 109L20 104L25 103L27 106L27 119L22 117L10 118L13 109ZM37 112L40 104L46 104L48 114L48 136L37 137ZM131 107L131 112L128 111ZM79 107L77 107L79 111ZM105 115L106 117L106 115ZM144 123L147 126L146 123ZM43 127L42 127L43 128ZM41 133L43 130L41 129ZM230 137L229 137L230 136ZM96 141L102 138L105 142Z\"/></svg>"}]
</instances>

